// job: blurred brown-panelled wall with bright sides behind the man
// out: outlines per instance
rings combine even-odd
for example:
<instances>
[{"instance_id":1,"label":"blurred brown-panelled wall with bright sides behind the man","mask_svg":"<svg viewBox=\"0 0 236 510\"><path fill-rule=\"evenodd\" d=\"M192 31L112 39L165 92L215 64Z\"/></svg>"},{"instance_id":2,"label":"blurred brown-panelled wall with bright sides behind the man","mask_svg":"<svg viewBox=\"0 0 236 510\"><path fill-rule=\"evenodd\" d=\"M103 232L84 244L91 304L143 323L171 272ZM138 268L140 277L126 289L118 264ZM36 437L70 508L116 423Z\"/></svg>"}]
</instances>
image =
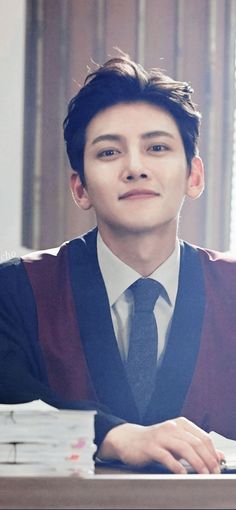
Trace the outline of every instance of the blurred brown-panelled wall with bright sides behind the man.
<instances>
[{"instance_id":1,"label":"blurred brown-panelled wall with bright sides behind the man","mask_svg":"<svg viewBox=\"0 0 236 510\"><path fill-rule=\"evenodd\" d=\"M62 123L116 47L194 88L206 190L180 236L236 251L235 28L236 0L0 0L0 260L95 224L71 198Z\"/></svg>"}]
</instances>

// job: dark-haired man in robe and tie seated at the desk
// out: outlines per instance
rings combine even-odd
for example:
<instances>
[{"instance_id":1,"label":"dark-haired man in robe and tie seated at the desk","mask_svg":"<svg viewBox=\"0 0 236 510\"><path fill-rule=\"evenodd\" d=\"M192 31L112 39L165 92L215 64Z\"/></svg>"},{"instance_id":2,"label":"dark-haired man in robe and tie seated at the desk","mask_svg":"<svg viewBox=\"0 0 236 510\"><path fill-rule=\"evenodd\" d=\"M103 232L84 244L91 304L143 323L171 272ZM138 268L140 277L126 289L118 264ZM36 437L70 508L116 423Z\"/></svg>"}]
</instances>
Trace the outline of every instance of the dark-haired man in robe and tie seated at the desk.
<instances>
[{"instance_id":1,"label":"dark-haired man in robe and tie seated at the desk","mask_svg":"<svg viewBox=\"0 0 236 510\"><path fill-rule=\"evenodd\" d=\"M118 58L71 101L72 192L98 228L2 266L0 399L96 409L102 459L218 473L208 432L236 439L236 264L177 236L204 187L191 92Z\"/></svg>"}]
</instances>

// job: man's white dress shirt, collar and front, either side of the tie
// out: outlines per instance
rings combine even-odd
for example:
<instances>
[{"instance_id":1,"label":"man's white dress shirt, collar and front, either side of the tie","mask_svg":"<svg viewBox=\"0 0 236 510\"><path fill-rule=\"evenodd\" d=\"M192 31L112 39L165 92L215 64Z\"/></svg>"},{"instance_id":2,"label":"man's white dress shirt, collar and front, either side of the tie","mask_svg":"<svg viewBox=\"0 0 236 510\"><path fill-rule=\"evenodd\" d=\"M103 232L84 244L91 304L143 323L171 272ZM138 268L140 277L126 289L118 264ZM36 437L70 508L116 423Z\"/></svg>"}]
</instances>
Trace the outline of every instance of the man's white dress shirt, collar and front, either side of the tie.
<instances>
[{"instance_id":1,"label":"man's white dress shirt, collar and front, either side of the tie","mask_svg":"<svg viewBox=\"0 0 236 510\"><path fill-rule=\"evenodd\" d=\"M111 309L111 317L118 348L123 361L127 359L129 349L129 333L133 313L133 296L130 285L142 278L137 271L122 262L103 242L100 234L97 237L98 263L105 283ZM158 366L160 366L168 341L173 311L175 307L180 266L180 246L176 246L172 254L161 264L150 278L163 285L155 307L154 314L158 325Z\"/></svg>"}]
</instances>

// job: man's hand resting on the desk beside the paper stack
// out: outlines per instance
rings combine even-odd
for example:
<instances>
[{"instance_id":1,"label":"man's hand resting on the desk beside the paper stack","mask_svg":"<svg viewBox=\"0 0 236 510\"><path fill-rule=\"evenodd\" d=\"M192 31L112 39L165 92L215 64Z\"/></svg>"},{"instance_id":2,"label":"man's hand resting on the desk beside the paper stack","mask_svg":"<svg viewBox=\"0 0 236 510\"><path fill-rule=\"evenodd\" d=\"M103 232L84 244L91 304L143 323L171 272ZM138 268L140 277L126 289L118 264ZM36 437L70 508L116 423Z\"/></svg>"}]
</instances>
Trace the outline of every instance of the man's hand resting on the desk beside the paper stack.
<instances>
[{"instance_id":1,"label":"man's hand resting on the desk beside the paper stack","mask_svg":"<svg viewBox=\"0 0 236 510\"><path fill-rule=\"evenodd\" d=\"M185 459L197 473L220 473L224 458L216 451L209 435L186 418L176 418L144 427L125 423L106 435L98 455L119 459L133 466L160 462L173 473L185 474L179 462Z\"/></svg>"}]
</instances>

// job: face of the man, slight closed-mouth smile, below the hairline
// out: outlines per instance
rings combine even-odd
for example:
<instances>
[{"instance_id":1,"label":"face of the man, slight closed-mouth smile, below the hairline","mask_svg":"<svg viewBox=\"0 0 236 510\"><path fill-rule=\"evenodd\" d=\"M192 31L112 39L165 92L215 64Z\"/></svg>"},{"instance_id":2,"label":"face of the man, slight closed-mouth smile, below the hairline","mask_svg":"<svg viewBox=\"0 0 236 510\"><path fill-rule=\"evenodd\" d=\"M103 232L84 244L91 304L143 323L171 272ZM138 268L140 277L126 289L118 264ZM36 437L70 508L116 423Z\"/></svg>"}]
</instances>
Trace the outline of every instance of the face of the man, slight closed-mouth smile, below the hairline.
<instances>
[{"instance_id":1,"label":"face of the man, slight closed-mouth smile, below the hairline","mask_svg":"<svg viewBox=\"0 0 236 510\"><path fill-rule=\"evenodd\" d=\"M104 240L176 228L191 184L174 119L145 102L121 103L91 120L84 174L79 203L94 207Z\"/></svg>"}]
</instances>

